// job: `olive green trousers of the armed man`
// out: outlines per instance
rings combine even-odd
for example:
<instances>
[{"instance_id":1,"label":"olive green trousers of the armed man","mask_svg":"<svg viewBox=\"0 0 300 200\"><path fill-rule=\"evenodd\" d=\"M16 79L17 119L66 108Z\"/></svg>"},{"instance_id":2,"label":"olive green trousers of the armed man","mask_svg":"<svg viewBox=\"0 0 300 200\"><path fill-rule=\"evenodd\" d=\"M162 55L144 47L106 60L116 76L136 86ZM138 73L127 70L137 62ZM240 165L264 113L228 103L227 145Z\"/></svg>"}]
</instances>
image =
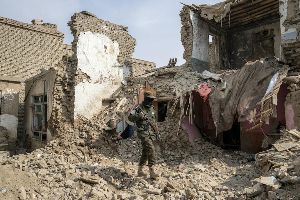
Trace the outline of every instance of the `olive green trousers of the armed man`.
<instances>
[{"instance_id":1,"label":"olive green trousers of the armed man","mask_svg":"<svg viewBox=\"0 0 300 200\"><path fill-rule=\"evenodd\" d=\"M142 156L139 165L145 165L148 160L148 165L156 164L155 149L152 139L149 137L142 138Z\"/></svg>"}]
</instances>

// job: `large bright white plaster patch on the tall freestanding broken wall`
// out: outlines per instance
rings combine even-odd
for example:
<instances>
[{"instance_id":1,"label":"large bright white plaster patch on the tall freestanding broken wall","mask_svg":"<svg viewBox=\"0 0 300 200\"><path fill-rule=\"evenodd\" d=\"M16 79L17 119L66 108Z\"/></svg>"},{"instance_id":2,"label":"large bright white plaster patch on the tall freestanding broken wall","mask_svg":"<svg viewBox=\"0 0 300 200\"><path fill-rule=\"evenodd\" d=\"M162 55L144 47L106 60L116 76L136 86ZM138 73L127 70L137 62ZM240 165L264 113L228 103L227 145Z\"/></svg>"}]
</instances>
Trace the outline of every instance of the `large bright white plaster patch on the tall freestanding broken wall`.
<instances>
[{"instance_id":1,"label":"large bright white plaster patch on the tall freestanding broken wall","mask_svg":"<svg viewBox=\"0 0 300 200\"><path fill-rule=\"evenodd\" d=\"M78 69L90 77L75 87L77 113L92 118L100 113L102 99L109 98L130 76L130 68L117 62L119 44L102 33L81 32L77 42Z\"/></svg>"}]
</instances>

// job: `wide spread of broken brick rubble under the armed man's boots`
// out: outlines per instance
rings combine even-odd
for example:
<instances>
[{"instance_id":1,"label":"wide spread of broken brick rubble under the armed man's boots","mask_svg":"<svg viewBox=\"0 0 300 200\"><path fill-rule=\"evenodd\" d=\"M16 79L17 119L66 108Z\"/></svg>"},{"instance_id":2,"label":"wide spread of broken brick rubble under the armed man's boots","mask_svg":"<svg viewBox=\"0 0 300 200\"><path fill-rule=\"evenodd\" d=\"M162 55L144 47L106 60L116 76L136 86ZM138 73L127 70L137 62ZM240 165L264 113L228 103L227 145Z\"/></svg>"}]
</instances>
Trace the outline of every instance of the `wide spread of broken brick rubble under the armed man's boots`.
<instances>
[{"instance_id":1,"label":"wide spread of broken brick rubble under the armed man's boots","mask_svg":"<svg viewBox=\"0 0 300 200\"><path fill-rule=\"evenodd\" d=\"M8 186L2 181L1 190L5 188L6 191L1 198L204 200L236 196L246 199L242 189L260 174L252 156L238 153L234 157L233 153L201 142L216 152L216 158L204 150L192 148L165 150L163 144L156 142L157 168L163 176L149 179L136 176L141 151L136 135L102 148L63 148L56 139L32 153L5 157L6 163L0 169L13 170L12 176L14 171L21 172L27 181L34 181ZM241 159L242 164L236 162L237 159Z\"/></svg>"}]
</instances>

